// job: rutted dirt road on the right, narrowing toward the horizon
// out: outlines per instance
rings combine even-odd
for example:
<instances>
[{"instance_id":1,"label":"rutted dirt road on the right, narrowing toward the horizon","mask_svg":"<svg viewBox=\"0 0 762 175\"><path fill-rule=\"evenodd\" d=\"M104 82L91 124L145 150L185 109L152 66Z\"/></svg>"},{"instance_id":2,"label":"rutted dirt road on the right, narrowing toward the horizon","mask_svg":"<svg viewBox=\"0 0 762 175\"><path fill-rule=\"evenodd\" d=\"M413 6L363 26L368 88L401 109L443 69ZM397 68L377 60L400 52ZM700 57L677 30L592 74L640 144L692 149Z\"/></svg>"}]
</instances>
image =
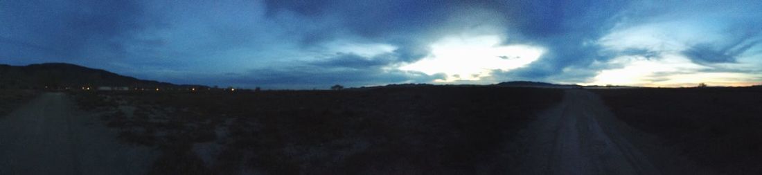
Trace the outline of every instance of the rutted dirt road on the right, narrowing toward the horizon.
<instances>
[{"instance_id":1,"label":"rutted dirt road on the right, narrowing toward the horizon","mask_svg":"<svg viewBox=\"0 0 762 175\"><path fill-rule=\"evenodd\" d=\"M567 90L521 135L523 174L660 174L589 91Z\"/></svg>"}]
</instances>

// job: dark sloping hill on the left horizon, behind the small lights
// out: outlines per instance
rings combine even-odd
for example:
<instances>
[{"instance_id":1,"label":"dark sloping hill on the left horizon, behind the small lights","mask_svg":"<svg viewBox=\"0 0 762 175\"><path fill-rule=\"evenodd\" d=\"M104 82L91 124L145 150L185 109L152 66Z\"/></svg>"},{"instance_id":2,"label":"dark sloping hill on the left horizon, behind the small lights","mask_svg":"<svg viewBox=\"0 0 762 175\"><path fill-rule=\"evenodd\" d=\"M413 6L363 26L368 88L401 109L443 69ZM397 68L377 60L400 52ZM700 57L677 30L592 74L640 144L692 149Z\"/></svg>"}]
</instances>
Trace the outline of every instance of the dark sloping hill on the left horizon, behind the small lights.
<instances>
[{"instance_id":1,"label":"dark sloping hill on the left horizon, behind the small lights","mask_svg":"<svg viewBox=\"0 0 762 175\"><path fill-rule=\"evenodd\" d=\"M97 68L68 63L43 63L26 66L0 64L0 87L202 87L140 80Z\"/></svg>"}]
</instances>

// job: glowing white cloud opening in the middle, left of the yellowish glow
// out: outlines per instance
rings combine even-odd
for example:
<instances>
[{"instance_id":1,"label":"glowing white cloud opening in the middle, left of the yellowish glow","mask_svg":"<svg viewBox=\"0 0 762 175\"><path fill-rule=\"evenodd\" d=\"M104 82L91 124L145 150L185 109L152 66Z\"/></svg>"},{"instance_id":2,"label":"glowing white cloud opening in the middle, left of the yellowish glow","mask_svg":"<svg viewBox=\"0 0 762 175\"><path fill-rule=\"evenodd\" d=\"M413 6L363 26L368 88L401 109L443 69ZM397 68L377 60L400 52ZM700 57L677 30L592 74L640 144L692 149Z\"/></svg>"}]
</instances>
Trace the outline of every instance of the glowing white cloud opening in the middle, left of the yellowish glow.
<instances>
[{"instance_id":1,"label":"glowing white cloud opening in the middle, left of the yellowish glow","mask_svg":"<svg viewBox=\"0 0 762 175\"><path fill-rule=\"evenodd\" d=\"M501 46L500 37L447 37L431 45L431 55L400 67L402 70L444 73L440 82L479 81L494 70L520 68L539 59L544 50L535 46Z\"/></svg>"}]
</instances>

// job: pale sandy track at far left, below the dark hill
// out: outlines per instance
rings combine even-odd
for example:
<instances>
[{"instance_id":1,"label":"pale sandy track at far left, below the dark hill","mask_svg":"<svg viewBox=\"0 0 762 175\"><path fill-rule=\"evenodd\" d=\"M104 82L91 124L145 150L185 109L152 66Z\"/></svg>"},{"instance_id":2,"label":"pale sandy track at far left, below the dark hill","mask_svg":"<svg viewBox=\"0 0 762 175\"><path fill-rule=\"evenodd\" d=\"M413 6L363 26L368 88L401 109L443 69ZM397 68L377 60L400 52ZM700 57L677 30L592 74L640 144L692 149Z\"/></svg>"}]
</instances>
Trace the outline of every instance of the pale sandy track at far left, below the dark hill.
<instances>
[{"instance_id":1,"label":"pale sandy track at far left, below the dark hill","mask_svg":"<svg viewBox=\"0 0 762 175\"><path fill-rule=\"evenodd\" d=\"M66 94L40 94L0 119L0 174L143 174L151 148L125 145Z\"/></svg>"}]
</instances>

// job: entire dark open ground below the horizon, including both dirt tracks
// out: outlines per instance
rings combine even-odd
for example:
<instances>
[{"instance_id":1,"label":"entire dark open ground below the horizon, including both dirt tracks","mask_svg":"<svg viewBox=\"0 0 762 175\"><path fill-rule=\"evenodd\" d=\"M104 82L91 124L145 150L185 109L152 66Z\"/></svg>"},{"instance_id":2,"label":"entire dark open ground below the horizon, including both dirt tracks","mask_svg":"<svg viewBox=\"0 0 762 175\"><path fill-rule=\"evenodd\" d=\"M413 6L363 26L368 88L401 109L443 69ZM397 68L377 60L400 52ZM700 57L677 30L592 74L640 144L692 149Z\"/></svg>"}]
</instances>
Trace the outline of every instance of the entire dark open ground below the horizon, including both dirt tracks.
<instances>
[{"instance_id":1,"label":"entire dark open ground below the horizon, including both dirt tracks","mask_svg":"<svg viewBox=\"0 0 762 175\"><path fill-rule=\"evenodd\" d=\"M762 172L762 89L754 87L71 91L34 99L0 122L3 140L17 140L0 154L64 157L27 160L48 169L6 161L9 172L101 172L88 164L124 152L115 150L142 155L123 156L130 166L100 163L149 174Z\"/></svg>"}]
</instances>

